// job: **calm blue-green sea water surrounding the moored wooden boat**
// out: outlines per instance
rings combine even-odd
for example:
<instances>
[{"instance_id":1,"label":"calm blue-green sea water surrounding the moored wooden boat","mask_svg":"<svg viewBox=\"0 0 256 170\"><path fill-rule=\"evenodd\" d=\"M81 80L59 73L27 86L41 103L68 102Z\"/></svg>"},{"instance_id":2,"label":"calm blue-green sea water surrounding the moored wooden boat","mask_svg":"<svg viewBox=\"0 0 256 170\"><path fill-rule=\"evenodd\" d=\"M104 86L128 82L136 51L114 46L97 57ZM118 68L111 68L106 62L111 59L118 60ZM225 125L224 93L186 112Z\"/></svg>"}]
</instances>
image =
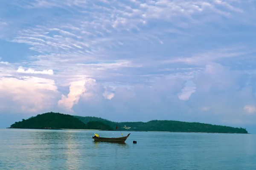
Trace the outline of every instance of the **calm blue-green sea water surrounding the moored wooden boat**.
<instances>
[{"instance_id":1,"label":"calm blue-green sea water surrounding the moored wooden boat","mask_svg":"<svg viewBox=\"0 0 256 170\"><path fill-rule=\"evenodd\" d=\"M126 144L114 144L93 142L94 133L120 136L109 131L0 129L0 169L256 169L253 134L131 132Z\"/></svg>"}]
</instances>

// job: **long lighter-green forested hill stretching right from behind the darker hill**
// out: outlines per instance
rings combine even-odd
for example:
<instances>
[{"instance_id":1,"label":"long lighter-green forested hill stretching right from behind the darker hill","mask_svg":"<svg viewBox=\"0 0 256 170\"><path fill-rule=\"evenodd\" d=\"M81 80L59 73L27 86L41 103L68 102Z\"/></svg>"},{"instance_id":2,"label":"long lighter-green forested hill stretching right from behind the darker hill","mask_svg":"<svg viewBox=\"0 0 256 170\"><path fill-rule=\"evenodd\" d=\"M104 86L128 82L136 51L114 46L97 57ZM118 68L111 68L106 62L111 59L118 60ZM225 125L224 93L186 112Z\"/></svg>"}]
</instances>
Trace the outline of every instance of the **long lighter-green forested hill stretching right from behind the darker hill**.
<instances>
[{"instance_id":1,"label":"long lighter-green forested hill stretching right from behind the darker hill","mask_svg":"<svg viewBox=\"0 0 256 170\"><path fill-rule=\"evenodd\" d=\"M169 131L169 132L204 132L204 133L248 133L244 128L229 127L221 125L211 125L197 122L180 122L172 120L152 120L149 122L111 122L106 119L91 116L75 116L84 123L90 121L103 122L118 130L135 130L135 131Z\"/></svg>"}]
</instances>

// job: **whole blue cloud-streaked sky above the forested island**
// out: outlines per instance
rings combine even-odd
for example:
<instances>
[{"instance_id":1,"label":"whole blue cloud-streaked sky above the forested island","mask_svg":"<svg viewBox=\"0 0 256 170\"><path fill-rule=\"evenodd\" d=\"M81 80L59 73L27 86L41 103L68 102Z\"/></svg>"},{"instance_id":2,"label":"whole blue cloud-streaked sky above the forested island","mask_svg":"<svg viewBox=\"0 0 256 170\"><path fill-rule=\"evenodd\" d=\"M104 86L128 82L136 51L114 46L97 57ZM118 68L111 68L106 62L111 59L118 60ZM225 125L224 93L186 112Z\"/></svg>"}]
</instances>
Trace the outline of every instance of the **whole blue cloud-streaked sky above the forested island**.
<instances>
[{"instance_id":1,"label":"whole blue cloud-streaked sky above the forested island","mask_svg":"<svg viewBox=\"0 0 256 170\"><path fill-rule=\"evenodd\" d=\"M4 0L0 127L49 111L256 132L255 0Z\"/></svg>"}]
</instances>

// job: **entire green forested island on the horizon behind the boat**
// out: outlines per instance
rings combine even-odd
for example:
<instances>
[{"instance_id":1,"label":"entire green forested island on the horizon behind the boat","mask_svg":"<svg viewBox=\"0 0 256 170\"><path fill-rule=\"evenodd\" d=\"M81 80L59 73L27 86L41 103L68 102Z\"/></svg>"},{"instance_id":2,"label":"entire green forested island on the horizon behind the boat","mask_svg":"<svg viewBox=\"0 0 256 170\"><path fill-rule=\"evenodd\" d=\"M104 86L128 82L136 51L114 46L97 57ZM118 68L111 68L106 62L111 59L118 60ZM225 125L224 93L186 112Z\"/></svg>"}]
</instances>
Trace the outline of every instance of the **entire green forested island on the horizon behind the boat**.
<instances>
[{"instance_id":1,"label":"entire green forested island on the horizon behind the boat","mask_svg":"<svg viewBox=\"0 0 256 170\"><path fill-rule=\"evenodd\" d=\"M198 133L248 133L245 128L211 125L198 122L152 120L149 122L112 122L92 116L72 116L62 113L43 113L15 122L8 128L20 129L81 129L122 131L168 131Z\"/></svg>"}]
</instances>

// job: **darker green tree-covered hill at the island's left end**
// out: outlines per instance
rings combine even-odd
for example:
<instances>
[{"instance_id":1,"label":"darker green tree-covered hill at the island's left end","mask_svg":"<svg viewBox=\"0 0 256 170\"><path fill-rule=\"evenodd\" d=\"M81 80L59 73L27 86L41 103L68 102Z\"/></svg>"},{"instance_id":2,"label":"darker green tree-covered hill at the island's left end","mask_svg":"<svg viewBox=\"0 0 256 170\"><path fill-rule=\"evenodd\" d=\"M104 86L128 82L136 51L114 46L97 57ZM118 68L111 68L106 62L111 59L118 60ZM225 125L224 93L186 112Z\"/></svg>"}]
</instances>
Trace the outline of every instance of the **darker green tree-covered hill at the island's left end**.
<instances>
[{"instance_id":1,"label":"darker green tree-covered hill at the island's left end","mask_svg":"<svg viewBox=\"0 0 256 170\"><path fill-rule=\"evenodd\" d=\"M44 113L32 116L29 119L22 119L15 122L10 128L21 129L99 129L113 130L109 125L102 122L88 122L85 124L74 116L61 113Z\"/></svg>"}]
</instances>

